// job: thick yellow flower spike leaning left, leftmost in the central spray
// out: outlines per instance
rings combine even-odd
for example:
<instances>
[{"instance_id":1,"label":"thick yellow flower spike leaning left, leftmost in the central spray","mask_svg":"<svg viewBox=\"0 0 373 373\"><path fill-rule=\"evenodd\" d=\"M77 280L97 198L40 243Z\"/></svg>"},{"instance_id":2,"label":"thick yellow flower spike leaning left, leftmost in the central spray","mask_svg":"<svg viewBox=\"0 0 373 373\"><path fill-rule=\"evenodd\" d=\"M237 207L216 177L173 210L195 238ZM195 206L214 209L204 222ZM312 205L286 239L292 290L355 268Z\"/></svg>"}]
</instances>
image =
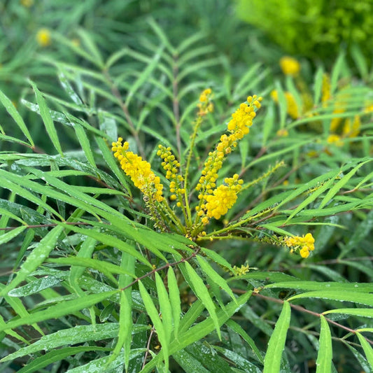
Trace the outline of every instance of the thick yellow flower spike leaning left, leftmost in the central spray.
<instances>
[{"instance_id":1,"label":"thick yellow flower spike leaning left, leftmost in the central spray","mask_svg":"<svg viewBox=\"0 0 373 373\"><path fill-rule=\"evenodd\" d=\"M113 142L114 157L118 158L122 170L129 176L143 195L151 203L153 199L157 202L163 201L162 190L163 185L160 183L159 176L155 176L150 169L150 163L146 162L139 155L128 151L129 143L127 141L122 144L123 139L120 137L118 141Z\"/></svg>"}]
</instances>

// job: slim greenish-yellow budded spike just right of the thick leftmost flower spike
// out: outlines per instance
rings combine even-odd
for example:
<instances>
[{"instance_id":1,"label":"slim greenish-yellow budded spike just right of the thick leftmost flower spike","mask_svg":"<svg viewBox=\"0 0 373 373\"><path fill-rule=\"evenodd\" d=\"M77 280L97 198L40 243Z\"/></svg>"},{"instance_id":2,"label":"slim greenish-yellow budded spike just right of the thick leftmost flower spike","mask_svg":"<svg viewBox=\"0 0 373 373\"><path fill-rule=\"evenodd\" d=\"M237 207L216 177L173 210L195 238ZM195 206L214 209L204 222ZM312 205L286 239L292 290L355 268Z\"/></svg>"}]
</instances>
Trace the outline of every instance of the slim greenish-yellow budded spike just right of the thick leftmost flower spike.
<instances>
[{"instance_id":1,"label":"slim greenish-yellow budded spike just right of the thick leftmost flower spike","mask_svg":"<svg viewBox=\"0 0 373 373\"><path fill-rule=\"evenodd\" d=\"M171 153L171 148L159 145L157 155L163 160L162 167L166 171L166 178L171 180L169 190L173 194L170 196L170 199L174 201L177 198L176 195L183 195L185 193L185 189L182 188L183 176L178 175L180 163Z\"/></svg>"}]
</instances>

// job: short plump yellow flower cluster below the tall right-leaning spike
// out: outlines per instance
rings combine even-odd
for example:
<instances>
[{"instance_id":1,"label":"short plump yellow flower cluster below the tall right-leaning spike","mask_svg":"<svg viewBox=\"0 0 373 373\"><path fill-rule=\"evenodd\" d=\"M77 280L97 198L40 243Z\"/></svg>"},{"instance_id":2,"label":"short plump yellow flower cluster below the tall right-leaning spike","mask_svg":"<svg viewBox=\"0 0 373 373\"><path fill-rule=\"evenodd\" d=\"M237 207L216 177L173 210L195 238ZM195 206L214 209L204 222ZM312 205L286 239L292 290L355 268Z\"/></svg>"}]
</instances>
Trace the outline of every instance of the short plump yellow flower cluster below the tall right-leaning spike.
<instances>
[{"instance_id":1,"label":"short plump yellow flower cluster below the tall right-leaning spike","mask_svg":"<svg viewBox=\"0 0 373 373\"><path fill-rule=\"evenodd\" d=\"M206 204L202 205L206 210L207 218L220 219L237 201L237 193L241 190L244 181L239 180L239 175L234 174L232 178L225 178L226 185L220 185L213 190L212 195L206 196ZM206 217L202 218L202 223L208 222Z\"/></svg>"}]
</instances>

